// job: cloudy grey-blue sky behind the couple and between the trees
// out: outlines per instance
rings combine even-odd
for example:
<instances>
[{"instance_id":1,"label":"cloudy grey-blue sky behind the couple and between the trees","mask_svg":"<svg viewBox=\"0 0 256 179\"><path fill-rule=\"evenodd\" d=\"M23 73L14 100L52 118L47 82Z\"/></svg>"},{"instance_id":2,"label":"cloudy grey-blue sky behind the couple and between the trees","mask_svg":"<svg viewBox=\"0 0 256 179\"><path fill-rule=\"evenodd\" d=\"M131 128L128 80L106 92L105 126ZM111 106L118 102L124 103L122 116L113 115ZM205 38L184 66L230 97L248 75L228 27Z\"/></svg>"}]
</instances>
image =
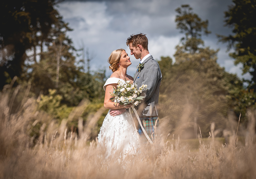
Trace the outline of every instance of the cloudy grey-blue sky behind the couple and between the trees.
<instances>
[{"instance_id":1,"label":"cloudy grey-blue sky behind the couple and between the trees","mask_svg":"<svg viewBox=\"0 0 256 179\"><path fill-rule=\"evenodd\" d=\"M224 11L232 0L65 0L58 4L58 11L64 21L74 29L68 35L79 49L84 44L92 57L91 70L106 69L109 77L108 57L115 49L123 48L131 58L127 73L135 74L139 60L130 55L126 39L131 34L145 33L150 54L159 60L170 56L174 61L175 46L183 34L176 29L175 9L189 4L202 20L208 19L208 30L203 36L205 46L218 49L218 63L230 73L242 77L241 66L234 66L233 59L226 52L226 45L218 43L216 34L228 35L231 29L224 27ZM249 78L248 74L243 78Z\"/></svg>"}]
</instances>

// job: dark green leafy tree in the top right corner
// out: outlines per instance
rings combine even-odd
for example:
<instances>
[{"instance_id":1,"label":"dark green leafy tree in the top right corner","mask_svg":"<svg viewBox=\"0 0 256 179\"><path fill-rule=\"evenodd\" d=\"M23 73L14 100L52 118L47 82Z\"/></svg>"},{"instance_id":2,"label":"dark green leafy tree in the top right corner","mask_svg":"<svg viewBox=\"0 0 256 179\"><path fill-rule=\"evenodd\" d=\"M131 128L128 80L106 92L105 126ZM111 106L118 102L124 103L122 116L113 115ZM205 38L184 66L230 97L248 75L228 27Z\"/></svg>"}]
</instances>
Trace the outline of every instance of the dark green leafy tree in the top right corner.
<instances>
[{"instance_id":1,"label":"dark green leafy tree in the top right corner","mask_svg":"<svg viewBox=\"0 0 256 179\"><path fill-rule=\"evenodd\" d=\"M225 12L225 26L232 28L233 34L218 37L228 42L228 50L235 50L230 56L235 59L235 65L243 65L243 74L252 75L249 88L256 89L256 1L233 0L233 3Z\"/></svg>"}]
</instances>

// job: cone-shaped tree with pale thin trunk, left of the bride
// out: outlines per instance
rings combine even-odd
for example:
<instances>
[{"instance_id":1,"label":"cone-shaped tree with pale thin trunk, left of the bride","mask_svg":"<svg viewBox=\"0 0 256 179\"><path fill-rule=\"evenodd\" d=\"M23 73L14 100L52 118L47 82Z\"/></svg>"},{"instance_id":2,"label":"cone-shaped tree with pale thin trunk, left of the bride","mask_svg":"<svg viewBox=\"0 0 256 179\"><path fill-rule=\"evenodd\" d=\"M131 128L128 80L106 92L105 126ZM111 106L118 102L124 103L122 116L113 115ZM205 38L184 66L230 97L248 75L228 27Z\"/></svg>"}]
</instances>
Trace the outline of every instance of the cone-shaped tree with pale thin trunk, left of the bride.
<instances>
[{"instance_id":1,"label":"cone-shaped tree with pale thin trunk, left of the bride","mask_svg":"<svg viewBox=\"0 0 256 179\"><path fill-rule=\"evenodd\" d=\"M57 94L63 96L62 102L77 105L86 96L75 97L80 94L76 81L81 67L76 64L72 41L62 31L50 44L38 63L27 65L22 79L31 81L36 96L41 91L46 95L49 89L56 89Z\"/></svg>"}]
</instances>

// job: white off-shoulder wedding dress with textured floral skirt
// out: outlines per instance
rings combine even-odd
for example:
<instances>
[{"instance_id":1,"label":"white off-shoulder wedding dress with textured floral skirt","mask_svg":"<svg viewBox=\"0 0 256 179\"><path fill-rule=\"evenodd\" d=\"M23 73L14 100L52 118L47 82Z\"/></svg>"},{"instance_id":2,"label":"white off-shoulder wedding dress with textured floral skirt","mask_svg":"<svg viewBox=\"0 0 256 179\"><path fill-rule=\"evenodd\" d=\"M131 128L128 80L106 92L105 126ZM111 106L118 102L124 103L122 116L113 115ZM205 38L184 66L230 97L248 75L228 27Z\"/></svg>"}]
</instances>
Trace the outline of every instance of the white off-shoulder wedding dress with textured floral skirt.
<instances>
[{"instance_id":1,"label":"white off-shoulder wedding dress with textured floral skirt","mask_svg":"<svg viewBox=\"0 0 256 179\"><path fill-rule=\"evenodd\" d=\"M104 90L106 91L106 85L117 83L118 80L124 82L120 78L108 78ZM98 147L106 150L106 158L136 154L140 141L130 113L126 111L113 117L109 111L98 135Z\"/></svg>"}]
</instances>

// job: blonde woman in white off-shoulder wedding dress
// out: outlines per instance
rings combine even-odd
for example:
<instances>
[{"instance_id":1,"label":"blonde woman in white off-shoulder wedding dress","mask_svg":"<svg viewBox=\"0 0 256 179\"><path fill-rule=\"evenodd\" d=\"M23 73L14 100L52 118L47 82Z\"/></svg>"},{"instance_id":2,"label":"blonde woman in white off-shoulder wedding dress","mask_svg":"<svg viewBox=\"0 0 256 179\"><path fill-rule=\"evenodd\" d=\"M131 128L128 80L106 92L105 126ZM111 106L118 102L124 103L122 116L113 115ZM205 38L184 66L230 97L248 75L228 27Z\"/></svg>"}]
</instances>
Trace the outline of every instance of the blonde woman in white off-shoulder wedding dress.
<instances>
[{"instance_id":1,"label":"blonde woman in white off-shoulder wedding dress","mask_svg":"<svg viewBox=\"0 0 256 179\"><path fill-rule=\"evenodd\" d=\"M129 105L114 104L110 98L113 96L109 92L116 89L118 80L133 83L133 78L126 74L127 67L131 65L130 57L124 49L114 50L108 58L109 69L113 71L110 78L107 79L103 88L105 90L104 107L110 109L106 115L98 135L98 147L106 150L106 158L109 156L126 156L137 153L139 147L139 137L133 119L126 111L131 107ZM122 114L111 114L111 110L121 109Z\"/></svg>"}]
</instances>

